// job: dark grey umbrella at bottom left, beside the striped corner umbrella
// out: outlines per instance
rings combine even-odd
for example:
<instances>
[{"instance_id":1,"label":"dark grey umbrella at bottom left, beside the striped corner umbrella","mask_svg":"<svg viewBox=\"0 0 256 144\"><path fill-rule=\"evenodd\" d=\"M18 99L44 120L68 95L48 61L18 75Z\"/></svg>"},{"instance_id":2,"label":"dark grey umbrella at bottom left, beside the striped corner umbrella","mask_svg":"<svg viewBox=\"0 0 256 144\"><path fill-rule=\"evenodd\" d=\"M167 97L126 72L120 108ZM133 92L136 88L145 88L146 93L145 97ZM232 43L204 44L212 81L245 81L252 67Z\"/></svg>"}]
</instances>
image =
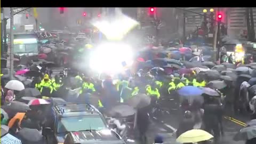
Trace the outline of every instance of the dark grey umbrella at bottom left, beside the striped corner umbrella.
<instances>
[{"instance_id":1,"label":"dark grey umbrella at bottom left, beside the striped corner umbrella","mask_svg":"<svg viewBox=\"0 0 256 144\"><path fill-rule=\"evenodd\" d=\"M19 131L18 137L21 138L22 141L38 142L42 140L43 135L36 129L24 127Z\"/></svg>"}]
</instances>

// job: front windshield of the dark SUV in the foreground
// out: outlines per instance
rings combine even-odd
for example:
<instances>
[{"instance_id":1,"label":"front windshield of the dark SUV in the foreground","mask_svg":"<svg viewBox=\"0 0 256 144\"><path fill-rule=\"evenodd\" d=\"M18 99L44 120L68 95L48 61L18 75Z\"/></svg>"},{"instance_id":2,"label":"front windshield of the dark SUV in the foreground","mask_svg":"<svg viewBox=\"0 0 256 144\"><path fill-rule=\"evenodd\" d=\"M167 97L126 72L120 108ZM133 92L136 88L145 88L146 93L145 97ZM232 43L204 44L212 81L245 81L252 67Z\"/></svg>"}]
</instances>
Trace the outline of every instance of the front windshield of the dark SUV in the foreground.
<instances>
[{"instance_id":1,"label":"front windshield of the dark SUV in the foreground","mask_svg":"<svg viewBox=\"0 0 256 144\"><path fill-rule=\"evenodd\" d=\"M96 130L100 131L106 129L106 124L102 121L100 116L75 116L63 117L58 123L58 133L70 131L85 131Z\"/></svg>"}]
</instances>

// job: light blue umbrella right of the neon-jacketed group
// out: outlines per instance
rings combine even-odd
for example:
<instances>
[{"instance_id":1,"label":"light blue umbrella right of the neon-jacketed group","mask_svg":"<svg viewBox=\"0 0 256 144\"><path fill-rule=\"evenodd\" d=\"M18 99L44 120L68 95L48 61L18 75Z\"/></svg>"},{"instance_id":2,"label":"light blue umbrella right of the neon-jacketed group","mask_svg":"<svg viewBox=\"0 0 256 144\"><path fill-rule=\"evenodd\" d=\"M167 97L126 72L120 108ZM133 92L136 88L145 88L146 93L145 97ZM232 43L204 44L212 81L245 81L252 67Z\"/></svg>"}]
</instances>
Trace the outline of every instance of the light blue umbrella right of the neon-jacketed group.
<instances>
[{"instance_id":1,"label":"light blue umbrella right of the neon-jacketed group","mask_svg":"<svg viewBox=\"0 0 256 144\"><path fill-rule=\"evenodd\" d=\"M203 90L195 86L184 86L180 90L178 90L178 93L180 95L189 97L194 95L201 95L203 93Z\"/></svg>"}]
</instances>

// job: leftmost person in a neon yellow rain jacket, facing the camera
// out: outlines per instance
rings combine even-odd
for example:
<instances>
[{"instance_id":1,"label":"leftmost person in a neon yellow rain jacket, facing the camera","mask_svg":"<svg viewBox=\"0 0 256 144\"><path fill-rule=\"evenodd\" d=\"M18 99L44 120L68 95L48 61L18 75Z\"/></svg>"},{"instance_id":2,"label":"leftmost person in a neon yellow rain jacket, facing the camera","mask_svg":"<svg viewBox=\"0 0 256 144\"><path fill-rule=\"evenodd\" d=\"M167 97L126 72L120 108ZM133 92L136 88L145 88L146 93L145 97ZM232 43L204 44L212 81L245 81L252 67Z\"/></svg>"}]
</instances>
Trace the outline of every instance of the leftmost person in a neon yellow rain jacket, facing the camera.
<instances>
[{"instance_id":1,"label":"leftmost person in a neon yellow rain jacket, facing the camera","mask_svg":"<svg viewBox=\"0 0 256 144\"><path fill-rule=\"evenodd\" d=\"M52 83L51 83L51 79L49 78L49 75L47 74L44 75L44 79L40 83L40 87L41 87L40 92L42 96L49 97L51 95L53 91L53 87L52 87Z\"/></svg>"}]
</instances>

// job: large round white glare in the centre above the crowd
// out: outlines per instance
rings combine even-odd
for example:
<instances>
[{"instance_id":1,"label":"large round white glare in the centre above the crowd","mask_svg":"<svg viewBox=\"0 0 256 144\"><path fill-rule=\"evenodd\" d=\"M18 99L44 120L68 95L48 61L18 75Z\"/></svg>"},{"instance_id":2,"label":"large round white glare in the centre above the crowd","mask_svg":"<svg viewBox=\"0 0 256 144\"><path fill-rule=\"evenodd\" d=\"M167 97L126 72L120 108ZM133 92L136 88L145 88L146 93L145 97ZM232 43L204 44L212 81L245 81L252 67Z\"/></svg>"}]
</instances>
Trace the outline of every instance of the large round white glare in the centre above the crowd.
<instances>
[{"instance_id":1,"label":"large round white glare in the centre above the crowd","mask_svg":"<svg viewBox=\"0 0 256 144\"><path fill-rule=\"evenodd\" d=\"M100 45L92 53L90 68L98 73L116 74L124 70L123 61L127 63L127 66L132 65L132 47L121 43L106 43Z\"/></svg>"}]
</instances>

